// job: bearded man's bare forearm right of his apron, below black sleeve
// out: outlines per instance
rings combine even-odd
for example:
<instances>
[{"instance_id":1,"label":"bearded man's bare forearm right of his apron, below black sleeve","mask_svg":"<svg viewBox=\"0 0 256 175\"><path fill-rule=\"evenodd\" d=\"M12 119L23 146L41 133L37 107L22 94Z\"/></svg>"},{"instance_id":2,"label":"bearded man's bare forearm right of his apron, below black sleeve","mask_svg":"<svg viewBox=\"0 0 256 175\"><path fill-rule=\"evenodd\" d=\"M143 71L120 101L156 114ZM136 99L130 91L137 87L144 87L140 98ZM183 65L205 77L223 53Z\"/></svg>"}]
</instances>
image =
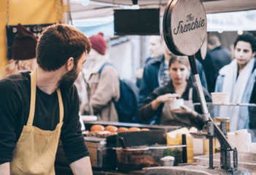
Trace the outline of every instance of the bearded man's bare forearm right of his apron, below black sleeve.
<instances>
[{"instance_id":1,"label":"bearded man's bare forearm right of his apron, below black sleeve","mask_svg":"<svg viewBox=\"0 0 256 175\"><path fill-rule=\"evenodd\" d=\"M92 175L91 161L89 156L76 160L69 166L74 175Z\"/></svg>"}]
</instances>

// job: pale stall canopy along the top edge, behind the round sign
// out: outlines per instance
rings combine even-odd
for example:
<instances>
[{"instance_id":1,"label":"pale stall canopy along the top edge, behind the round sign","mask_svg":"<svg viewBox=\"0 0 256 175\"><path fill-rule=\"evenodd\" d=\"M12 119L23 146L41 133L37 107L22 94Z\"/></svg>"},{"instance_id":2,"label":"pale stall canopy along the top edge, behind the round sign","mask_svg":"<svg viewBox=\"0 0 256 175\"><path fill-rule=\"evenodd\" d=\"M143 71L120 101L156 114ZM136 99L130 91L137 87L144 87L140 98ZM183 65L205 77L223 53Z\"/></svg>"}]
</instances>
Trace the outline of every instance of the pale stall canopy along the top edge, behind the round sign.
<instances>
[{"instance_id":1,"label":"pale stall canopy along the top edge, behind the round sign","mask_svg":"<svg viewBox=\"0 0 256 175\"><path fill-rule=\"evenodd\" d=\"M256 9L255 0L202 0L206 13L236 12ZM168 0L138 0L140 8L159 8L162 16ZM132 0L94 0L83 6L80 0L70 0L73 20L113 15L113 9L129 9Z\"/></svg>"}]
</instances>

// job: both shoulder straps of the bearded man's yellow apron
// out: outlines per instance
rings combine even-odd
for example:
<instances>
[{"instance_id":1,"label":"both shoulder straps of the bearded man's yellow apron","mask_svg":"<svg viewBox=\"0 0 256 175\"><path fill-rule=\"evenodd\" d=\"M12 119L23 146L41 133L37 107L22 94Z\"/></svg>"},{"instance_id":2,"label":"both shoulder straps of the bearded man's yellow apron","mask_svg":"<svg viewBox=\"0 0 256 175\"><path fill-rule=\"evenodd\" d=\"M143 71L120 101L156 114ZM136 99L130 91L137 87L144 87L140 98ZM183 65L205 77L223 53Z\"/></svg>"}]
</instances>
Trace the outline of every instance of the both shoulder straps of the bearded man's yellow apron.
<instances>
[{"instance_id":1,"label":"both shoulder straps of the bearded man's yellow apron","mask_svg":"<svg viewBox=\"0 0 256 175\"><path fill-rule=\"evenodd\" d=\"M36 91L37 91L37 69L31 72L31 99L30 99L30 111L29 111L29 120L26 125L33 125L34 121L34 109L36 106ZM59 123L63 122L64 117L64 107L61 98L61 90L57 89L58 98L59 98Z\"/></svg>"}]
</instances>

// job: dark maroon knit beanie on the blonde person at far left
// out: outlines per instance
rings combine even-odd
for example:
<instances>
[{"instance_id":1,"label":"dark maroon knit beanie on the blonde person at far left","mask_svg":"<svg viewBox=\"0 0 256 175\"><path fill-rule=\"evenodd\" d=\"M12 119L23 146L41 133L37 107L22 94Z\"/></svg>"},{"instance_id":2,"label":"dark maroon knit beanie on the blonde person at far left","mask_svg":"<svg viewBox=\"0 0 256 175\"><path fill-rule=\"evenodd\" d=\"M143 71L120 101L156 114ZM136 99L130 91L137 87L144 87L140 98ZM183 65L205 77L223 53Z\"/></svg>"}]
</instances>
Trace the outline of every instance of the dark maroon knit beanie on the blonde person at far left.
<instances>
[{"instance_id":1,"label":"dark maroon knit beanie on the blonde person at far left","mask_svg":"<svg viewBox=\"0 0 256 175\"><path fill-rule=\"evenodd\" d=\"M36 58L36 47L37 37L19 23L18 34L15 35L12 45L12 59L29 60Z\"/></svg>"}]
</instances>

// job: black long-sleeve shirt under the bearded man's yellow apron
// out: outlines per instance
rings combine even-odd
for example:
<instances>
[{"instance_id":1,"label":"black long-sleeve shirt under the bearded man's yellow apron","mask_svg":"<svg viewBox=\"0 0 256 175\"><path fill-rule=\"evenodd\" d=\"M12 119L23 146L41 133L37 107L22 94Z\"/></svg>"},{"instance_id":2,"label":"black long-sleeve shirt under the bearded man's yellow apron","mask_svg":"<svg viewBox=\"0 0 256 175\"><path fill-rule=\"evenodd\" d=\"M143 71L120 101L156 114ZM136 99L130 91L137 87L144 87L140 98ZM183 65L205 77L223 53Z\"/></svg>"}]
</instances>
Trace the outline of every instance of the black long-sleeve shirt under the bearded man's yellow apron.
<instances>
[{"instance_id":1,"label":"black long-sleeve shirt under the bearded man's yellow apron","mask_svg":"<svg viewBox=\"0 0 256 175\"><path fill-rule=\"evenodd\" d=\"M14 74L0 80L0 164L12 161L12 152L29 119L31 80L28 72ZM61 88L64 124L60 139L68 163L89 156L80 130L78 90ZM44 93L37 88L33 125L54 131L59 123L59 99L55 91Z\"/></svg>"}]
</instances>

